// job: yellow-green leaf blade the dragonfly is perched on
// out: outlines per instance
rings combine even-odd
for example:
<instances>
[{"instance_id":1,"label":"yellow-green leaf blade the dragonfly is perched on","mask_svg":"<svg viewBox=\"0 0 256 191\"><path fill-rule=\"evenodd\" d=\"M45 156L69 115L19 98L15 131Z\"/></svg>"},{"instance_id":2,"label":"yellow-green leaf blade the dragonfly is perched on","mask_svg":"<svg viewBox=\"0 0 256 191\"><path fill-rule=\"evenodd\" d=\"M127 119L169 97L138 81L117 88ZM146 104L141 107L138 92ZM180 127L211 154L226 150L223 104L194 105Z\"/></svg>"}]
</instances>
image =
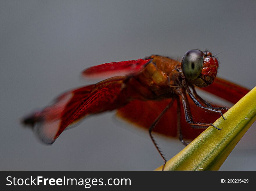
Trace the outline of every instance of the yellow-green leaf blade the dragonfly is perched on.
<instances>
[{"instance_id":1,"label":"yellow-green leaf blade the dragonfly is perched on","mask_svg":"<svg viewBox=\"0 0 256 191\"><path fill-rule=\"evenodd\" d=\"M164 170L218 170L256 119L256 87L188 146L167 161ZM162 170L162 166L156 170Z\"/></svg>"}]
</instances>

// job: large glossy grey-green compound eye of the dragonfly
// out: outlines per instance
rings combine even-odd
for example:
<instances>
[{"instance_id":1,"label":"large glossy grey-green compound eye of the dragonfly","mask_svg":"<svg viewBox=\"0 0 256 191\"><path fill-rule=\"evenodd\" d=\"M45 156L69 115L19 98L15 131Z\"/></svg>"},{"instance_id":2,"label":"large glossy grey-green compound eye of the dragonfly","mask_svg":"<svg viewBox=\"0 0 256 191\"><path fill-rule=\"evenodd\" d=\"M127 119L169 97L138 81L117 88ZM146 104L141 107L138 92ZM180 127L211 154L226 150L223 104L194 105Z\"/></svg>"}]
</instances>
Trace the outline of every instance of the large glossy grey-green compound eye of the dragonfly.
<instances>
[{"instance_id":1,"label":"large glossy grey-green compound eye of the dragonfly","mask_svg":"<svg viewBox=\"0 0 256 191\"><path fill-rule=\"evenodd\" d=\"M188 80L195 80L202 72L204 53L200 50L189 50L182 59L182 73Z\"/></svg>"}]
</instances>

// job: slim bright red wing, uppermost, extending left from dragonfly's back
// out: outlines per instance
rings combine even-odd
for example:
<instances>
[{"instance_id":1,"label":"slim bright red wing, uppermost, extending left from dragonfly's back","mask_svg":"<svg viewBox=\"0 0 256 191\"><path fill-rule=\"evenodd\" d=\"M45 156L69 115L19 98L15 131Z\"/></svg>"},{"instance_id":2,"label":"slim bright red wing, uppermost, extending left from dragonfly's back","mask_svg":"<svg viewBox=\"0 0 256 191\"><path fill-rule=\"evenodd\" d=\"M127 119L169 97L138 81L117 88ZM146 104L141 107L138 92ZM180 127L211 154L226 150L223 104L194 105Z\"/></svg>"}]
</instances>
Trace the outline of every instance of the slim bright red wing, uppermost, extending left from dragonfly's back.
<instances>
[{"instance_id":1,"label":"slim bright red wing, uppermost, extending left from dragonfly's back","mask_svg":"<svg viewBox=\"0 0 256 191\"><path fill-rule=\"evenodd\" d=\"M126 76L140 72L151 59L111 62L87 68L82 72L85 77Z\"/></svg>"}]
</instances>

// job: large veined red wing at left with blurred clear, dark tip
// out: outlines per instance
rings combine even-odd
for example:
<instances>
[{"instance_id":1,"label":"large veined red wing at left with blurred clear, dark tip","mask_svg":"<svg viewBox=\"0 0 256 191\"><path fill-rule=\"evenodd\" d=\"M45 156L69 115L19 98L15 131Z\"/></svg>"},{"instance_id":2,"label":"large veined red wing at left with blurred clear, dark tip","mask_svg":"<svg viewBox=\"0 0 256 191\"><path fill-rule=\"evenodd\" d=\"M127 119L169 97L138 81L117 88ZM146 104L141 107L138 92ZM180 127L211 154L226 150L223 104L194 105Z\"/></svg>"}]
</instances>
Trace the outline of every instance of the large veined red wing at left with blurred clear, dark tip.
<instances>
[{"instance_id":1,"label":"large veined red wing at left with blurred clear, dark tip","mask_svg":"<svg viewBox=\"0 0 256 191\"><path fill-rule=\"evenodd\" d=\"M34 126L39 138L53 143L68 126L83 117L112 110L111 103L122 90L122 79L111 78L59 96L54 103L23 120L25 125Z\"/></svg>"}]
</instances>

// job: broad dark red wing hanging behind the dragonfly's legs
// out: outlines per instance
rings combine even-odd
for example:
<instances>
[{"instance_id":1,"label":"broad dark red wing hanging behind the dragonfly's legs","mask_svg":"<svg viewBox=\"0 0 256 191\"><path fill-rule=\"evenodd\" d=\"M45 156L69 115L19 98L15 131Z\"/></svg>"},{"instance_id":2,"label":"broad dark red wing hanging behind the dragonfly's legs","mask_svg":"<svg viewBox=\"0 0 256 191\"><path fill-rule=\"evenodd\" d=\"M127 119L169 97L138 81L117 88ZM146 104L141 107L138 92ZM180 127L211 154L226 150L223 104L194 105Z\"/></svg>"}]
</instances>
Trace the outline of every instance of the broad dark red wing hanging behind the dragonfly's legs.
<instances>
[{"instance_id":1,"label":"broad dark red wing hanging behind the dragonfly's legs","mask_svg":"<svg viewBox=\"0 0 256 191\"><path fill-rule=\"evenodd\" d=\"M191 99L188 100L195 122L214 122L220 117L218 114L205 112L205 110L195 106L195 103ZM128 122L148 129L170 101L171 99L161 101L134 100L129 102L126 106L118 109L117 115L118 117L124 118ZM180 103L182 106L182 102ZM184 139L194 139L204 131L203 129L192 128L191 125L186 122L183 108L181 108L181 128ZM162 135L177 137L176 101L173 103L173 106L163 115L153 131Z\"/></svg>"}]
</instances>

